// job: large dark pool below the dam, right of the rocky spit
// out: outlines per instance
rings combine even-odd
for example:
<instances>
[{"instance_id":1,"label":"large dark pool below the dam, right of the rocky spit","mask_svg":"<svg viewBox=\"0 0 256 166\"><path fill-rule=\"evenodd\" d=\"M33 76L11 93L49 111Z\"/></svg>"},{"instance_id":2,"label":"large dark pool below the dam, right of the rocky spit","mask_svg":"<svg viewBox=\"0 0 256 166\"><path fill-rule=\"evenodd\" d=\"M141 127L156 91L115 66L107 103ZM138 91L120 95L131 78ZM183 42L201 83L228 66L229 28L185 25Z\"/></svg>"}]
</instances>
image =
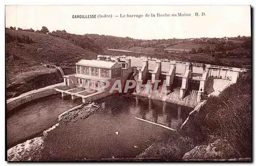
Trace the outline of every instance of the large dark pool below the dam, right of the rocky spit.
<instances>
[{"instance_id":1,"label":"large dark pool below the dam, right of the rocky spit","mask_svg":"<svg viewBox=\"0 0 256 166\"><path fill-rule=\"evenodd\" d=\"M162 101L116 95L98 104L100 109L86 120L78 118L77 122L50 132L42 160L136 157L169 130L135 117L176 128L192 110Z\"/></svg>"}]
</instances>

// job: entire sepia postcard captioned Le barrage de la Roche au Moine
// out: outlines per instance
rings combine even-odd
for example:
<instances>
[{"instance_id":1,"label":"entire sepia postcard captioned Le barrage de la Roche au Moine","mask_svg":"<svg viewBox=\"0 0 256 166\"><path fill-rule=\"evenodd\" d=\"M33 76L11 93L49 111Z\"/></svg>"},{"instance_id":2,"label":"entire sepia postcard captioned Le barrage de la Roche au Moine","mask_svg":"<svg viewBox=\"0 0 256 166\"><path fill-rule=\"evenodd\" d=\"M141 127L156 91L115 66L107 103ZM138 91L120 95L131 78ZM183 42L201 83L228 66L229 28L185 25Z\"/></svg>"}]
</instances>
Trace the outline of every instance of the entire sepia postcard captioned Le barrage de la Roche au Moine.
<instances>
[{"instance_id":1,"label":"entire sepia postcard captioned Le barrage de la Roche au Moine","mask_svg":"<svg viewBox=\"0 0 256 166\"><path fill-rule=\"evenodd\" d=\"M251 6L5 6L7 161L252 161Z\"/></svg>"}]
</instances>

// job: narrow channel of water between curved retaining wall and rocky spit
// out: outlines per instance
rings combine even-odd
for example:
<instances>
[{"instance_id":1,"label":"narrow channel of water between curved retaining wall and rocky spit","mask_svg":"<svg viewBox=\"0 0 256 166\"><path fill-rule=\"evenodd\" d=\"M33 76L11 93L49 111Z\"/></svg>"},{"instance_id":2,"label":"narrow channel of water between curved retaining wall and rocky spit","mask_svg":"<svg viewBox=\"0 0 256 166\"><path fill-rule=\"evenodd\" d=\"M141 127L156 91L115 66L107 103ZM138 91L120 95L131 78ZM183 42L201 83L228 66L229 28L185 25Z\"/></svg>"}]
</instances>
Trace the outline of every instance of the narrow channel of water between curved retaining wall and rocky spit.
<instances>
[{"instance_id":1,"label":"narrow channel of water between curved retaining wall and rocky spit","mask_svg":"<svg viewBox=\"0 0 256 166\"><path fill-rule=\"evenodd\" d=\"M7 148L39 136L57 123L60 113L81 104L81 100L61 99L60 94L24 104L7 118Z\"/></svg>"}]
</instances>

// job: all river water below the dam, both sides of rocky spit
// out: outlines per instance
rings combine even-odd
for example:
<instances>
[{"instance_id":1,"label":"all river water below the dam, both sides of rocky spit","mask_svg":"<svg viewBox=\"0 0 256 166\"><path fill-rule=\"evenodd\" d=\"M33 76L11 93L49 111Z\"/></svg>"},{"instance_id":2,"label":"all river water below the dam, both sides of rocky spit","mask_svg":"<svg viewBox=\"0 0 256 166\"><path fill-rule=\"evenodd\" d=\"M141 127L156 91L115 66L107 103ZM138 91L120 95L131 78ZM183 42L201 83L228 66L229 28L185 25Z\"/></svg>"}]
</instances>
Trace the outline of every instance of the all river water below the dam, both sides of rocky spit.
<instances>
[{"instance_id":1,"label":"all river water below the dam, both sides of rocky spit","mask_svg":"<svg viewBox=\"0 0 256 166\"><path fill-rule=\"evenodd\" d=\"M32 137L57 122L60 113L81 104L51 96L31 103L7 120L8 145ZM48 133L42 160L133 158L170 130L137 120L176 128L192 108L118 94L97 101L100 109L86 120L60 125ZM115 133L118 132L118 135Z\"/></svg>"}]
</instances>

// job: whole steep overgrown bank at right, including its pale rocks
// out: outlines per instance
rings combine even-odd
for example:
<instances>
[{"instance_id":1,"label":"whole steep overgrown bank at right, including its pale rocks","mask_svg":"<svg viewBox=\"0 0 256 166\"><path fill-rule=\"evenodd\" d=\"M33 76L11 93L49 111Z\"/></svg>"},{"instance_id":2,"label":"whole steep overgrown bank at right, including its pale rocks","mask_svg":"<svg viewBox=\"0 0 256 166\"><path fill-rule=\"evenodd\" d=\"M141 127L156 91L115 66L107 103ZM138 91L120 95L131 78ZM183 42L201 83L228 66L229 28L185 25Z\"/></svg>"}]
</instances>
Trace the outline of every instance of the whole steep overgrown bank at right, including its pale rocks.
<instances>
[{"instance_id":1,"label":"whole steep overgrown bank at right, including its pale rocks","mask_svg":"<svg viewBox=\"0 0 256 166\"><path fill-rule=\"evenodd\" d=\"M189 116L181 130L166 133L137 158L251 160L250 72Z\"/></svg>"}]
</instances>

